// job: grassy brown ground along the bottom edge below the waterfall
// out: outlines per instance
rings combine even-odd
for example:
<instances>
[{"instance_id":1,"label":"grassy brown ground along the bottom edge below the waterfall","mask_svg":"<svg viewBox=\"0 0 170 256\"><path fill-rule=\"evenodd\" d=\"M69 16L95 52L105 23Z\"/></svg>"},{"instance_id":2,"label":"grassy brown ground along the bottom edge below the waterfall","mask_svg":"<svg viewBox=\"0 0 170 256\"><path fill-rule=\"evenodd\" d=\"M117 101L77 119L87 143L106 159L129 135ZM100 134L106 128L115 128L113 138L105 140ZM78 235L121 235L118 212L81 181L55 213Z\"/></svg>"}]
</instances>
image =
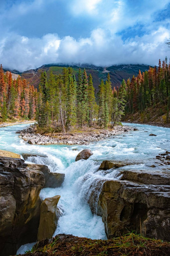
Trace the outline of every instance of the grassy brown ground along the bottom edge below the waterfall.
<instances>
[{"instance_id":1,"label":"grassy brown ground along the bottom edge below the waterfall","mask_svg":"<svg viewBox=\"0 0 170 256\"><path fill-rule=\"evenodd\" d=\"M58 234L52 239L37 242L27 256L80 256L80 255L147 255L168 256L170 244L146 239L131 233L110 240L92 240L68 234Z\"/></svg>"}]
</instances>

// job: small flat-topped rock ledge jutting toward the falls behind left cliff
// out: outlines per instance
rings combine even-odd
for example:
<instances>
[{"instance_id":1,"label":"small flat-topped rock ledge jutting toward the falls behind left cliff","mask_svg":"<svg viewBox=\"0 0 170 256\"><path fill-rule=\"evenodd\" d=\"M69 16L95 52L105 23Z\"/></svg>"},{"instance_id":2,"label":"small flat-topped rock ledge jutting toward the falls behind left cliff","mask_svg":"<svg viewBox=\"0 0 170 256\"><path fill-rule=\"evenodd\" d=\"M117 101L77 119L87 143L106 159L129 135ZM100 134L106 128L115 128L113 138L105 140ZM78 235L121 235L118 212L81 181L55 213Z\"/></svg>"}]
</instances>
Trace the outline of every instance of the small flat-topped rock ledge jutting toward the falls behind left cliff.
<instances>
[{"instance_id":1,"label":"small flat-topped rock ledge jutting toward the falls behind left cliff","mask_svg":"<svg viewBox=\"0 0 170 256\"><path fill-rule=\"evenodd\" d=\"M64 173L53 173L50 172L45 165L27 164L27 169L37 170L43 173L45 178L44 188L58 188L62 185L64 181Z\"/></svg>"}]
</instances>

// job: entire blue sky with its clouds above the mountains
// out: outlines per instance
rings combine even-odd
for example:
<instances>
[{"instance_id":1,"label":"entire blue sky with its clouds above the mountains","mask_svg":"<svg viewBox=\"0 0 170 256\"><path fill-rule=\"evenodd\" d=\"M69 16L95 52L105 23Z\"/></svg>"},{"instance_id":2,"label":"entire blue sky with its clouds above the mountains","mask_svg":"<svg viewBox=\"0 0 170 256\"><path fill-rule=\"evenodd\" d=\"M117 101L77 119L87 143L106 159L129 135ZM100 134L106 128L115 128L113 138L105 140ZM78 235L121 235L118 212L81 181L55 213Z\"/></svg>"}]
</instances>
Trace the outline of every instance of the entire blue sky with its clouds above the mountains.
<instances>
[{"instance_id":1,"label":"entire blue sky with its clouds above the mountains","mask_svg":"<svg viewBox=\"0 0 170 256\"><path fill-rule=\"evenodd\" d=\"M0 0L0 63L156 65L170 57L169 0Z\"/></svg>"}]
</instances>

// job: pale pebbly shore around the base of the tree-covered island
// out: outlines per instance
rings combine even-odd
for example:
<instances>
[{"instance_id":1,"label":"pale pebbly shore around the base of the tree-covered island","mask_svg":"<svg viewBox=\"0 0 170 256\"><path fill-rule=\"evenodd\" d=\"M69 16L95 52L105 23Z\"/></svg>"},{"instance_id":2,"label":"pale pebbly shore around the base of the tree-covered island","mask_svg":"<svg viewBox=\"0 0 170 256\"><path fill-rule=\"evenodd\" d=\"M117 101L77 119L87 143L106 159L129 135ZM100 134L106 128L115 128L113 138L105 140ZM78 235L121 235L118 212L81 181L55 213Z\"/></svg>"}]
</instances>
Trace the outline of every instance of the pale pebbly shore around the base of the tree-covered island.
<instances>
[{"instance_id":1,"label":"pale pebbly shore around the base of the tree-covered island","mask_svg":"<svg viewBox=\"0 0 170 256\"><path fill-rule=\"evenodd\" d=\"M91 142L111 138L133 131L130 126L117 125L112 130L90 129L87 131L78 131L72 133L53 133L42 134L36 130L36 125L30 125L26 129L20 131L20 138L29 144L50 145L50 144L66 144L66 145L88 145Z\"/></svg>"}]
</instances>

